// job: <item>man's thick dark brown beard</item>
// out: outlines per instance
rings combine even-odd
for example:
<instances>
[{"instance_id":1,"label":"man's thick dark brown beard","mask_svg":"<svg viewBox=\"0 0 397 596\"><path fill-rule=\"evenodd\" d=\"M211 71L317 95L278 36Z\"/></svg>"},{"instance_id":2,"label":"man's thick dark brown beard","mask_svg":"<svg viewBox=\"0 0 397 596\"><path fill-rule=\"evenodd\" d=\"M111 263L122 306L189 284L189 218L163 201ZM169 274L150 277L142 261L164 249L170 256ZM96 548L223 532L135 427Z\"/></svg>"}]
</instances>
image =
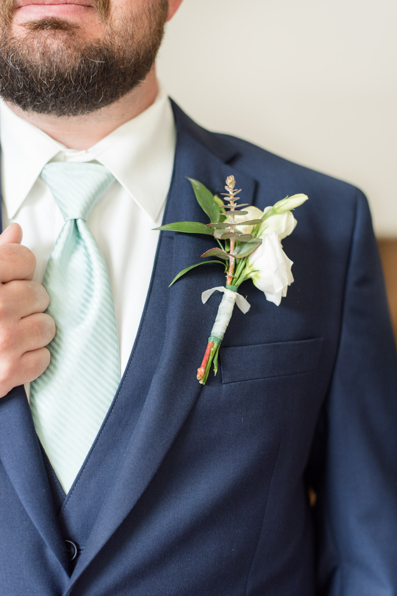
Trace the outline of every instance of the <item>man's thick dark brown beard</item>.
<instances>
[{"instance_id":1,"label":"man's thick dark brown beard","mask_svg":"<svg viewBox=\"0 0 397 596\"><path fill-rule=\"evenodd\" d=\"M107 0L98 0L107 35L89 42L79 37L79 27L57 18L30 21L26 35L17 38L4 9L0 96L23 110L54 116L88 114L114 103L145 79L160 47L168 0L148 5L143 13L122 15L123 25L115 29Z\"/></svg>"}]
</instances>

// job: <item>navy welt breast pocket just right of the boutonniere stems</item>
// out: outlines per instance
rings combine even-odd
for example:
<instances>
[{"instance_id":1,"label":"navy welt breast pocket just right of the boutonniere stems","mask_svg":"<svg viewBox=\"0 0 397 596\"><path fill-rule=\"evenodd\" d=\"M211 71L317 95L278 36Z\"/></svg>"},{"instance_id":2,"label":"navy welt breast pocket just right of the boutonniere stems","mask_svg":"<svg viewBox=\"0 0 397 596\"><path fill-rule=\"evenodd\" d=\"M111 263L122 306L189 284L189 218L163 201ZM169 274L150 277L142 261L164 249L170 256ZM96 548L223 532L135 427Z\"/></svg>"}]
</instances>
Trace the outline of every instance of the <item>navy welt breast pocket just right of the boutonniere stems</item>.
<instances>
[{"instance_id":1,"label":"navy welt breast pocket just right of the boutonniere stems","mask_svg":"<svg viewBox=\"0 0 397 596\"><path fill-rule=\"evenodd\" d=\"M222 383L308 373L318 367L322 337L220 348Z\"/></svg>"}]
</instances>

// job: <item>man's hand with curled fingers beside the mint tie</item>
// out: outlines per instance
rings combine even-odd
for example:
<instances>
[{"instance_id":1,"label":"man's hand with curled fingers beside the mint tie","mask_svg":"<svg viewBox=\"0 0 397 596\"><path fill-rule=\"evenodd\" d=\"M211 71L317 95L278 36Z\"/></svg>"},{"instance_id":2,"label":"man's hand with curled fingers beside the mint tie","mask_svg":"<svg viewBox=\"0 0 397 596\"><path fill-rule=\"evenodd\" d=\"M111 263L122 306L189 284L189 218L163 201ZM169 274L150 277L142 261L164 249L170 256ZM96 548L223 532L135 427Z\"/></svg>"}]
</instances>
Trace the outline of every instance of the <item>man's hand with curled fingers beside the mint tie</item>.
<instances>
[{"instance_id":1,"label":"man's hand with curled fingers beside the mint tie","mask_svg":"<svg viewBox=\"0 0 397 596\"><path fill-rule=\"evenodd\" d=\"M0 235L0 398L45 371L44 346L55 336L54 319L43 313L48 294L32 281L36 258L21 240L18 224Z\"/></svg>"}]
</instances>

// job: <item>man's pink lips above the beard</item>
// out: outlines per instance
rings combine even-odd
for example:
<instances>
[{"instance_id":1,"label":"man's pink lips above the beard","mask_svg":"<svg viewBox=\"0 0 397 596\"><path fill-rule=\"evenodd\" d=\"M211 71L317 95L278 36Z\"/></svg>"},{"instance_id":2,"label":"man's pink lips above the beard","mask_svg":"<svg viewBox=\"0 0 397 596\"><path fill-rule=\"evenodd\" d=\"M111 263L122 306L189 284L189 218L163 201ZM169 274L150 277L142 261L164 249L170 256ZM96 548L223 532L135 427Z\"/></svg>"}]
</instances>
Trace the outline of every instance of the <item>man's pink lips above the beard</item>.
<instances>
[{"instance_id":1,"label":"man's pink lips above the beard","mask_svg":"<svg viewBox=\"0 0 397 596\"><path fill-rule=\"evenodd\" d=\"M96 5L92 0L17 0L14 6L14 23L43 18L80 20L93 11L96 12Z\"/></svg>"}]
</instances>

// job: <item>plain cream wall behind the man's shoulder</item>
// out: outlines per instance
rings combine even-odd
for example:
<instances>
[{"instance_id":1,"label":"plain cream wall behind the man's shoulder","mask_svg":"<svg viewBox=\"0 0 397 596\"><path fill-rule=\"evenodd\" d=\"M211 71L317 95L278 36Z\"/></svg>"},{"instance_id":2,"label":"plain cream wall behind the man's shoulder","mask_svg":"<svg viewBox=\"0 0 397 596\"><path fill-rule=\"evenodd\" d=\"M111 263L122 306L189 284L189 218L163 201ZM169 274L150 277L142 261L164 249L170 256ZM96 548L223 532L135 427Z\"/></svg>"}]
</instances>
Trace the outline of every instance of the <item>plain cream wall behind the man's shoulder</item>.
<instances>
[{"instance_id":1,"label":"plain cream wall behind the man's shoulder","mask_svg":"<svg viewBox=\"0 0 397 596\"><path fill-rule=\"evenodd\" d=\"M358 185L397 237L396 25L396 0L184 0L160 78L207 128Z\"/></svg>"}]
</instances>

